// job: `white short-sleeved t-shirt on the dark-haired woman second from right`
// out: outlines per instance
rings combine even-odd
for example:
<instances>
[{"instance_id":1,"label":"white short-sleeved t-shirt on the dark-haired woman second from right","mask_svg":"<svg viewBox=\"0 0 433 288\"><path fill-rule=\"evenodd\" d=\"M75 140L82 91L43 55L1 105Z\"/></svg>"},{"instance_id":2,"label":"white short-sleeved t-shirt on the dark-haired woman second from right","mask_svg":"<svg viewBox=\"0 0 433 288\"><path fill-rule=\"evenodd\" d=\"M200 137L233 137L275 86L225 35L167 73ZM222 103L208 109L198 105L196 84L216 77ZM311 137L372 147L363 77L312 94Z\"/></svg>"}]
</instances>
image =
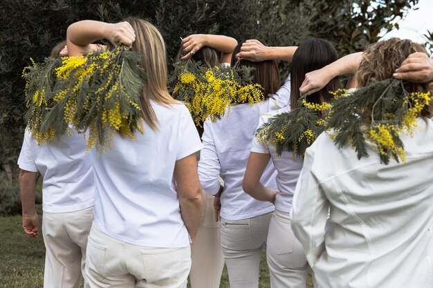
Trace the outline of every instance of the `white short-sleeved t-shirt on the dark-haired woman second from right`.
<instances>
[{"instance_id":1,"label":"white short-sleeved t-shirt on the dark-haired woman second from right","mask_svg":"<svg viewBox=\"0 0 433 288\"><path fill-rule=\"evenodd\" d=\"M268 122L271 117L288 111L290 111L290 107L287 106L286 108L261 115L257 128ZM270 154L278 173L276 180L279 193L275 196L275 209L289 213L292 209L292 199L293 193L295 193L297 178L301 173L304 160L300 157L296 157L293 160L293 153L289 151L283 151L281 155L277 155L273 144L266 146L263 142L259 142L257 137L252 140L251 152Z\"/></svg>"}]
</instances>

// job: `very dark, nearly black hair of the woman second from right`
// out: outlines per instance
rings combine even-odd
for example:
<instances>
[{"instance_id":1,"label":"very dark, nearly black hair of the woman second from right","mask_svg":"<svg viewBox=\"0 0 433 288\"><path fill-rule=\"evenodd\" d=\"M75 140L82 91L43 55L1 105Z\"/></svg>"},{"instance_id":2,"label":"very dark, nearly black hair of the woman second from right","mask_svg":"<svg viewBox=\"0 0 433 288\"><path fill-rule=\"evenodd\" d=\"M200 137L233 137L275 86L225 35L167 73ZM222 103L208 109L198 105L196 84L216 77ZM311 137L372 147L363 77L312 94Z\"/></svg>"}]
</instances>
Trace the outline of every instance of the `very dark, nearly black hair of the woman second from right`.
<instances>
[{"instance_id":1,"label":"very dark, nearly black hair of the woman second from right","mask_svg":"<svg viewBox=\"0 0 433 288\"><path fill-rule=\"evenodd\" d=\"M310 38L304 41L293 55L291 72L291 107L295 108L300 98L300 87L308 72L323 68L338 59L337 51L329 41ZM338 89L338 77L329 81L322 90L308 96L308 102L329 102L329 91ZM320 113L319 113L320 114Z\"/></svg>"}]
</instances>

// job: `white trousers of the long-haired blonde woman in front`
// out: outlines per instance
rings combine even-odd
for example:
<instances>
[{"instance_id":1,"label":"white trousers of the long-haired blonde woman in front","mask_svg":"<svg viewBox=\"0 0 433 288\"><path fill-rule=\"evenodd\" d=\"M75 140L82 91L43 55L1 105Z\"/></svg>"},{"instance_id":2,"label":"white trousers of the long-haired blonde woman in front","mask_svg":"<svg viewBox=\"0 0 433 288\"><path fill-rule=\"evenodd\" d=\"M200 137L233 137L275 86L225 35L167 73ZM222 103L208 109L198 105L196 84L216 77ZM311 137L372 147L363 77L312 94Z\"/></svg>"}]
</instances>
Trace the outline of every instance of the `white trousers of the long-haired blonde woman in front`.
<instances>
[{"instance_id":1,"label":"white trousers of the long-haired blonde woman in front","mask_svg":"<svg viewBox=\"0 0 433 288\"><path fill-rule=\"evenodd\" d=\"M190 246L154 248L129 244L92 225L86 275L91 288L185 288Z\"/></svg>"}]
</instances>

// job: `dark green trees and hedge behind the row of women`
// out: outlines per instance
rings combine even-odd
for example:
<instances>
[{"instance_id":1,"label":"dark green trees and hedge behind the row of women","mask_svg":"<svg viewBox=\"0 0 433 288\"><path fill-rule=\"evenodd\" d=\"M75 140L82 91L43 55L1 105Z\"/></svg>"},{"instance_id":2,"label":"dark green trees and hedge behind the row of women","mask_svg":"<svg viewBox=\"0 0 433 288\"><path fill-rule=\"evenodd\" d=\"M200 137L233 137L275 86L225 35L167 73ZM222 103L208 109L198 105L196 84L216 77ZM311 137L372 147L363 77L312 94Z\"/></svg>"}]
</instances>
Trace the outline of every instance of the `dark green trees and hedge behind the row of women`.
<instances>
[{"instance_id":1,"label":"dark green trees and hedge behind the row of women","mask_svg":"<svg viewBox=\"0 0 433 288\"><path fill-rule=\"evenodd\" d=\"M42 62L77 20L120 21L127 16L154 23L167 46L169 67L179 37L219 33L270 46L297 45L323 37L339 54L363 50L404 17L418 0L8 0L0 1L0 166L15 166L24 131L24 81L30 57ZM286 64L280 64L284 75Z\"/></svg>"}]
</instances>

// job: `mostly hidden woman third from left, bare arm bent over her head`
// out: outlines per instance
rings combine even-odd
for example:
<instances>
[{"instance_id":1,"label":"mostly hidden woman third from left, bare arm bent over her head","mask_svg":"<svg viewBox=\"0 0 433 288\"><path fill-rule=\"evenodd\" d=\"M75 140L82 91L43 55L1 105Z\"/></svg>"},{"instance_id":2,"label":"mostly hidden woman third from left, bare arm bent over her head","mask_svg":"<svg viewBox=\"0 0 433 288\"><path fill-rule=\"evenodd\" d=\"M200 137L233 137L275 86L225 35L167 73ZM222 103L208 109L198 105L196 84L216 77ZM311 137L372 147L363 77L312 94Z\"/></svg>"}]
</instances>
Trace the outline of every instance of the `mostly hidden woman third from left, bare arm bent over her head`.
<instances>
[{"instance_id":1,"label":"mostly hidden woman third from left, bare arm bent over her head","mask_svg":"<svg viewBox=\"0 0 433 288\"><path fill-rule=\"evenodd\" d=\"M231 59L237 46L236 39L223 35L194 34L182 40L176 59L201 61L203 66L213 68ZM221 54L221 57L220 57ZM202 126L196 126L203 135ZM192 288L219 288L224 258L221 251L221 224L214 220L214 197L203 191L203 213L197 236L191 245L190 284Z\"/></svg>"}]
</instances>

